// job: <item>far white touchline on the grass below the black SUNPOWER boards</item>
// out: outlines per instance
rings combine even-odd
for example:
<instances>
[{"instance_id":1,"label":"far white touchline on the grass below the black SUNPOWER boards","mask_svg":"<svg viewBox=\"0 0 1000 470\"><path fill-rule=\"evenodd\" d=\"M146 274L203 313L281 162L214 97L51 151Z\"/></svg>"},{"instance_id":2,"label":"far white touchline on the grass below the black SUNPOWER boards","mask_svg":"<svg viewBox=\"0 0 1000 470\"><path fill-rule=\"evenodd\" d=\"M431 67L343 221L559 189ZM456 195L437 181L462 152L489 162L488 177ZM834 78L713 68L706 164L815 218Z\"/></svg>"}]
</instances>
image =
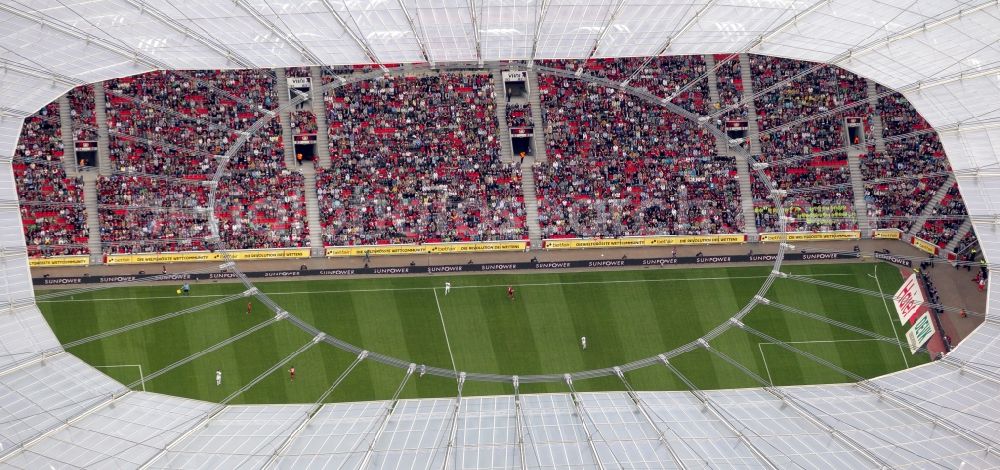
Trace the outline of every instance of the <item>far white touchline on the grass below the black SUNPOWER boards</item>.
<instances>
[{"instance_id":1,"label":"far white touchline on the grass below the black SUNPOWER boards","mask_svg":"<svg viewBox=\"0 0 1000 470\"><path fill-rule=\"evenodd\" d=\"M803 277L833 277L833 276L853 276L849 273L828 273L828 274L806 274ZM621 280L606 280L606 281L577 281L577 282L537 282L537 283L526 283L526 284L480 284L480 285L469 285L469 286L451 286L452 289L493 289L498 287L545 287L545 286L573 286L573 285L586 285L586 284L632 284L641 282L686 282L686 281L722 281L728 279L766 279L767 276L728 276L728 277L689 277L683 279L621 279ZM197 286L196 286L197 287ZM277 295L303 295L303 294L345 294L352 292L394 292L394 291L421 291L421 290L434 290L436 287L390 287L384 289L335 289L335 290L310 290L310 291L295 291L295 292L263 292L267 296L277 296ZM59 302L96 302L96 301L116 301L116 300L161 300L161 299L176 299L176 298L187 298L187 299L197 299L197 298L214 298L214 297L226 297L232 294L205 294L205 295L164 295L164 296L151 296L151 297L98 297L93 299L53 299L53 300L39 300L35 303L59 303Z\"/></svg>"}]
</instances>

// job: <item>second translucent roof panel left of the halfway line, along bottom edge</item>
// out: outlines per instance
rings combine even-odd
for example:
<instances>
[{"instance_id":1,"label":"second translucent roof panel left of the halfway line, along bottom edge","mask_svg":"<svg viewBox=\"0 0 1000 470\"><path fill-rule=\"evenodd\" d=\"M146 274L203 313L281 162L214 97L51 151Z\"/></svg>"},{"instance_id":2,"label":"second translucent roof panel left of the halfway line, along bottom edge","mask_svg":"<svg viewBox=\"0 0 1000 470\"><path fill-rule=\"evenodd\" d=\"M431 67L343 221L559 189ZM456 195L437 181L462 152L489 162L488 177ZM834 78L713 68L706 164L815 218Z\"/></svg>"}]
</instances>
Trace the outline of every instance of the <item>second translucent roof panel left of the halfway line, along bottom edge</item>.
<instances>
[{"instance_id":1,"label":"second translucent roof panel left of the halfway line, along bottom edge","mask_svg":"<svg viewBox=\"0 0 1000 470\"><path fill-rule=\"evenodd\" d=\"M324 406L292 439L275 468L357 468L388 407L388 402Z\"/></svg>"}]
</instances>

